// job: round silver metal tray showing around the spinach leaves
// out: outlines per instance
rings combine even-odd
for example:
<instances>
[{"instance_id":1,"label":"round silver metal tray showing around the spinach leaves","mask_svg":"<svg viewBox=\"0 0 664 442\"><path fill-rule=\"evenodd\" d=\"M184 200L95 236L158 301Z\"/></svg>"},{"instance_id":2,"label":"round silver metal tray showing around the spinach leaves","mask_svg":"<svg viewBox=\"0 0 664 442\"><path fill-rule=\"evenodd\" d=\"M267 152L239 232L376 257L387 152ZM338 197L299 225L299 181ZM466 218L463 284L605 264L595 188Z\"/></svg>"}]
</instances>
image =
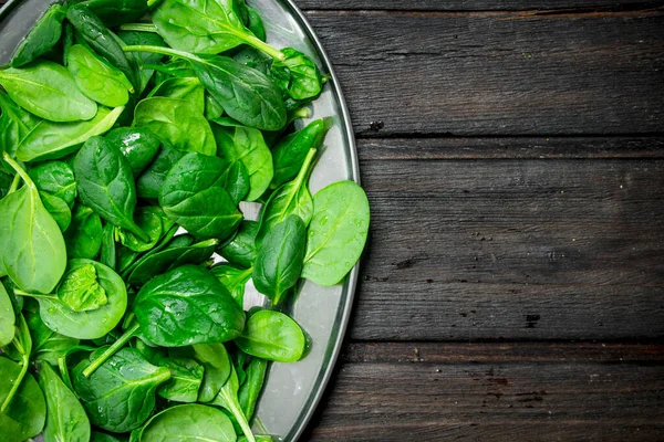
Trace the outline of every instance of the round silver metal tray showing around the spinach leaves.
<instances>
[{"instance_id":1,"label":"round silver metal tray showing around the spinach leaves","mask_svg":"<svg viewBox=\"0 0 664 442\"><path fill-rule=\"evenodd\" d=\"M10 0L0 10L0 65L11 56L15 39L30 29L52 0ZM313 118L332 117L325 139L325 151L312 177L311 191L340 180L360 181L357 152L349 112L330 59L313 29L290 0L249 0L263 18L268 42L277 48L291 46L312 56L331 80L322 96L313 104ZM243 207L248 218L259 208ZM343 335L349 324L359 269L343 285L331 288L305 282L294 299L291 314L310 338L304 359L297 364L273 364L260 398L257 417L268 434L283 441L295 441L304 431L325 385L332 375ZM262 305L264 298L248 287L247 306ZM259 425L260 427L260 425ZM258 429L257 429L258 430ZM262 430L262 429L261 429Z\"/></svg>"}]
</instances>

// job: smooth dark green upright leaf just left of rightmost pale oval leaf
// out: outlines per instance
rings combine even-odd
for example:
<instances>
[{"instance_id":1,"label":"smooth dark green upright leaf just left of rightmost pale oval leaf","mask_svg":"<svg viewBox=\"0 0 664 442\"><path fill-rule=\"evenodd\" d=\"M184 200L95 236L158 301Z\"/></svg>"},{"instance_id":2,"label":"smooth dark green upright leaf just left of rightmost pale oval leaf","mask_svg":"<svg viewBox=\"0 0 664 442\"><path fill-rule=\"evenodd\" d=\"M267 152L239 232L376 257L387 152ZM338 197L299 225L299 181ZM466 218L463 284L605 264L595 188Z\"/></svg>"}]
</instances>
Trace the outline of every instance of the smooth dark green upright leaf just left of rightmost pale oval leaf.
<instances>
[{"instance_id":1,"label":"smooth dark green upright leaf just left of rightmost pale oval leaf","mask_svg":"<svg viewBox=\"0 0 664 442\"><path fill-rule=\"evenodd\" d=\"M307 228L298 215L290 215L266 235L253 265L253 285L278 305L302 272Z\"/></svg>"}]
</instances>

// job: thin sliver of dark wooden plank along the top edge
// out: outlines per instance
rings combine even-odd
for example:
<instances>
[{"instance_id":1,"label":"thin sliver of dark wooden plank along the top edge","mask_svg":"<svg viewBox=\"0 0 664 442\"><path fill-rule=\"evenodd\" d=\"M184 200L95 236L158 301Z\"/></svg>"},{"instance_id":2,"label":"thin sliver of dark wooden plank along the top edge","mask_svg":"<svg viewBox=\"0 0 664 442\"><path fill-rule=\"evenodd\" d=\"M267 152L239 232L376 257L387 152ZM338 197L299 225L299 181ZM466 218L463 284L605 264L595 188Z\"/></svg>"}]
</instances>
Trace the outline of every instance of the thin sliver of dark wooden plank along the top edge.
<instances>
[{"instance_id":1,"label":"thin sliver of dark wooden plank along the top edge","mask_svg":"<svg viewBox=\"0 0 664 442\"><path fill-rule=\"evenodd\" d=\"M295 3L303 10L392 11L550 11L571 8L633 11L658 4L656 1L643 0L295 0Z\"/></svg>"}]
</instances>

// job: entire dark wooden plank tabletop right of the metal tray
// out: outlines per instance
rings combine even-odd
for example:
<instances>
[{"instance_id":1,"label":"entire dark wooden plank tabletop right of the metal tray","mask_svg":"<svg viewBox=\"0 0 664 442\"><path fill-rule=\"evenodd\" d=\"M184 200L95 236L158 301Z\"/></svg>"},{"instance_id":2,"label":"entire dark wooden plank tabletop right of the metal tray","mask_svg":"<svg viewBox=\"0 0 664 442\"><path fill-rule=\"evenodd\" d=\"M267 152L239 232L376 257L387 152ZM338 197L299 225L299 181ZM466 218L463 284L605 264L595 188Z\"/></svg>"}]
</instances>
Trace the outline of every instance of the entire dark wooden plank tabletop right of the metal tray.
<instances>
[{"instance_id":1,"label":"entire dark wooden plank tabletop right of the metal tray","mask_svg":"<svg viewBox=\"0 0 664 442\"><path fill-rule=\"evenodd\" d=\"M664 2L297 2L373 215L303 440L664 440Z\"/></svg>"}]
</instances>

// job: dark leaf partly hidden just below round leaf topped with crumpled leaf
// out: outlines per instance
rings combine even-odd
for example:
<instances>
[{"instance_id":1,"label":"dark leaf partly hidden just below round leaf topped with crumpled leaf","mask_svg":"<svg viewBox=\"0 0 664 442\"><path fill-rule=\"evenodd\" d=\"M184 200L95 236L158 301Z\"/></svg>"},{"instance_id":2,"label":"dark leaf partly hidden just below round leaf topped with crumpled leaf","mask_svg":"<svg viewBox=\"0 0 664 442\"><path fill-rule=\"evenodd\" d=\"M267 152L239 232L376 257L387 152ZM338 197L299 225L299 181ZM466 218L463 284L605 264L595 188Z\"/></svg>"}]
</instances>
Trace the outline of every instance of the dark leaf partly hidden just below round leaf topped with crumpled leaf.
<instances>
[{"instance_id":1,"label":"dark leaf partly hidden just below round leaf topped with crumpled leaf","mask_svg":"<svg viewBox=\"0 0 664 442\"><path fill-rule=\"evenodd\" d=\"M32 358L55 366L62 354L79 345L79 339L61 335L46 327L39 315L39 304L35 299L25 297L23 314L32 338Z\"/></svg>"}]
</instances>

